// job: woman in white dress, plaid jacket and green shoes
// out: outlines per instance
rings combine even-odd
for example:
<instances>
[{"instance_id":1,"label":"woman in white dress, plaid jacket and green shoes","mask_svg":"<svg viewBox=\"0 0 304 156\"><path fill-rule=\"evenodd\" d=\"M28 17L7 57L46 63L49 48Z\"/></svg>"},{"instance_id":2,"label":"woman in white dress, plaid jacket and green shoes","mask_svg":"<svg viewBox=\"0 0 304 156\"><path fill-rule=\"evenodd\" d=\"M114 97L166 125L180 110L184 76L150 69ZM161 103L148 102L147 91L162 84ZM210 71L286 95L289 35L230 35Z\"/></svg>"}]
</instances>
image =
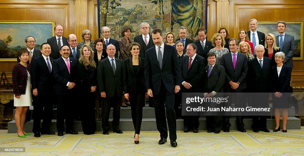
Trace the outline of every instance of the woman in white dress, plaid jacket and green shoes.
<instances>
[{"instance_id":1,"label":"woman in white dress, plaid jacket and green shoes","mask_svg":"<svg viewBox=\"0 0 304 156\"><path fill-rule=\"evenodd\" d=\"M12 70L14 106L16 107L15 121L18 137L26 137L31 135L23 130L26 111L29 106L32 106L31 67L27 64L29 52L26 48L21 48L18 50L18 57L20 63L16 64Z\"/></svg>"}]
</instances>

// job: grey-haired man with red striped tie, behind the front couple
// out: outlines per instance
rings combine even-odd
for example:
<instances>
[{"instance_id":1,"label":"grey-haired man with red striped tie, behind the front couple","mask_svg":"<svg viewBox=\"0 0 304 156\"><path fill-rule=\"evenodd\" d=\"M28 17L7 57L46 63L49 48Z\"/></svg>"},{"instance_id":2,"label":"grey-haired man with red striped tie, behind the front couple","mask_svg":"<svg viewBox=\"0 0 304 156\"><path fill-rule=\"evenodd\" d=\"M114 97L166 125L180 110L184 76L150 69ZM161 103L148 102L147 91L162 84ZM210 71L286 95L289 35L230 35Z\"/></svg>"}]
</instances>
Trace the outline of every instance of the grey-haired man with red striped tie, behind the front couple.
<instances>
[{"instance_id":1,"label":"grey-haired man with red striped tie, behind the front couple","mask_svg":"<svg viewBox=\"0 0 304 156\"><path fill-rule=\"evenodd\" d=\"M140 23L140 31L142 35L138 35L134 38L134 42L139 43L140 51L139 57L145 58L145 53L147 49L154 46L152 36L149 34L150 25L147 22ZM153 97L149 97L149 107L154 108Z\"/></svg>"}]
</instances>

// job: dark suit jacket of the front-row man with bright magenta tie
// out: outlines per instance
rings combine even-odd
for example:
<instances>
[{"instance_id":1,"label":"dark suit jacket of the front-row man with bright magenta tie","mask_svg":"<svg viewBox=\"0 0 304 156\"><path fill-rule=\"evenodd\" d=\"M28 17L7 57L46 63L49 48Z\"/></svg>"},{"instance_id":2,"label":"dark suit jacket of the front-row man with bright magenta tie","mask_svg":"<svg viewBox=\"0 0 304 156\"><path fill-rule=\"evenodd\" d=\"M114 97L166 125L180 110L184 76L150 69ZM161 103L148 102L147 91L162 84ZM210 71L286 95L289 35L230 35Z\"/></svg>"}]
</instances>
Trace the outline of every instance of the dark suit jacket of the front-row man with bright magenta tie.
<instances>
[{"instance_id":1,"label":"dark suit jacket of the front-row man with bright magenta tie","mask_svg":"<svg viewBox=\"0 0 304 156\"><path fill-rule=\"evenodd\" d=\"M248 60L245 54L237 53L237 63L235 69L233 69L231 52L222 56L220 64L225 68L226 87L230 88L230 81L235 83L240 82L237 89L245 89L247 87L245 79L248 71Z\"/></svg>"}]
</instances>

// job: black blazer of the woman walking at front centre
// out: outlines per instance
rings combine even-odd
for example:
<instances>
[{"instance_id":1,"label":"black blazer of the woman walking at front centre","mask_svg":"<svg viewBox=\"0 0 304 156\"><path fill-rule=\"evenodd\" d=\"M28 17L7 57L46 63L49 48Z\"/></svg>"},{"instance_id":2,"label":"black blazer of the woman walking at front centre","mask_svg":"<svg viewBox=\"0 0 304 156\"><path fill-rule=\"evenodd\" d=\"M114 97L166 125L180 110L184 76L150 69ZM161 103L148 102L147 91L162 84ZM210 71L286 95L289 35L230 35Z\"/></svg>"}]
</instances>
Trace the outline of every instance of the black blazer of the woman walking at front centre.
<instances>
[{"instance_id":1,"label":"black blazer of the woman walking at front centre","mask_svg":"<svg viewBox=\"0 0 304 156\"><path fill-rule=\"evenodd\" d=\"M123 61L124 79L123 86L126 93L145 93L146 84L144 79L145 59L139 58L138 70L135 73L132 65L132 57Z\"/></svg>"}]
</instances>

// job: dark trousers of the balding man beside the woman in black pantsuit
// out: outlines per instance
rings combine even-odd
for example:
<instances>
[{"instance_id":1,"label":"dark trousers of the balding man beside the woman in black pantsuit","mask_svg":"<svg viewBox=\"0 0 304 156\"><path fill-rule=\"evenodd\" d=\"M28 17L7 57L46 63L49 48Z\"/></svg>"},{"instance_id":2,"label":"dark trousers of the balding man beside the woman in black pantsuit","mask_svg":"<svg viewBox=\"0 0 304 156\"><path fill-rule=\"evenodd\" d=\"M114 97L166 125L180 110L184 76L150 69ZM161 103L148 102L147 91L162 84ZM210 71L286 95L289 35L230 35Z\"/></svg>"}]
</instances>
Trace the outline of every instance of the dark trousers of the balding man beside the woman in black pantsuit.
<instances>
[{"instance_id":1,"label":"dark trousers of the balding man beside the woman in black pantsuit","mask_svg":"<svg viewBox=\"0 0 304 156\"><path fill-rule=\"evenodd\" d=\"M116 92L116 91L115 91ZM113 130L119 128L119 120L120 120L120 101L121 96L115 95L113 97L105 97L102 99L102 129L109 130L109 115L111 107L113 107L113 121L112 126Z\"/></svg>"}]
</instances>

